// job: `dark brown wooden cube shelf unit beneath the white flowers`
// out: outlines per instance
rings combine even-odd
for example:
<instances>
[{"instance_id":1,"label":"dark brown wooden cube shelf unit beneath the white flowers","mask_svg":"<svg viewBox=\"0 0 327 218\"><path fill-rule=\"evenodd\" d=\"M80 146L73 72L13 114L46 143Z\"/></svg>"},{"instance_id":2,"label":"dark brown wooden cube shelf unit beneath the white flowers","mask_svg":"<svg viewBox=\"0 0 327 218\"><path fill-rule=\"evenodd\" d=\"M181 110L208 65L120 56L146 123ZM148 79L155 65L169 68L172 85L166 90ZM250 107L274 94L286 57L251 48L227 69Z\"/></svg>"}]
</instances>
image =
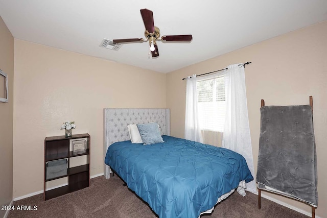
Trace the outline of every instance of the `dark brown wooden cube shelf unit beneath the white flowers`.
<instances>
[{"instance_id":1,"label":"dark brown wooden cube shelf unit beneath the white flowers","mask_svg":"<svg viewBox=\"0 0 327 218\"><path fill-rule=\"evenodd\" d=\"M72 151L71 141L86 140L86 149L78 154ZM71 137L53 136L44 139L44 187L43 199L49 200L56 198L66 193L73 192L90 184L90 135L77 134ZM75 157L86 156L86 162L81 165L71 167L71 159ZM67 160L67 171L64 175L59 175L53 178L46 178L47 166L49 161ZM67 178L67 185L63 185L54 189L47 188L47 182L57 180L60 178Z\"/></svg>"}]
</instances>

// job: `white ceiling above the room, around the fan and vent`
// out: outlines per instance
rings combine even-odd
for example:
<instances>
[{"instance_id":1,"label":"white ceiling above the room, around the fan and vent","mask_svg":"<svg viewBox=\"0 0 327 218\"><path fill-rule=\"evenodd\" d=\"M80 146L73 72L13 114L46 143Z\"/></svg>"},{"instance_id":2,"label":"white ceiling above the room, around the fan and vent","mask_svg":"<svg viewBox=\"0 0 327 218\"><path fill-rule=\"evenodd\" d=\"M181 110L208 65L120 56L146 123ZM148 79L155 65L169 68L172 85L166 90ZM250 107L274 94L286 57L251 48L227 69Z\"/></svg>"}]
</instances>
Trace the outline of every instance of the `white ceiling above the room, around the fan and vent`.
<instances>
[{"instance_id":1,"label":"white ceiling above the room, around the fan and vent","mask_svg":"<svg viewBox=\"0 0 327 218\"><path fill-rule=\"evenodd\" d=\"M100 47L104 38L144 38L143 8L161 35L193 40L158 42L158 58L148 42ZM0 16L16 39L166 73L327 20L327 1L0 0Z\"/></svg>"}]
</instances>

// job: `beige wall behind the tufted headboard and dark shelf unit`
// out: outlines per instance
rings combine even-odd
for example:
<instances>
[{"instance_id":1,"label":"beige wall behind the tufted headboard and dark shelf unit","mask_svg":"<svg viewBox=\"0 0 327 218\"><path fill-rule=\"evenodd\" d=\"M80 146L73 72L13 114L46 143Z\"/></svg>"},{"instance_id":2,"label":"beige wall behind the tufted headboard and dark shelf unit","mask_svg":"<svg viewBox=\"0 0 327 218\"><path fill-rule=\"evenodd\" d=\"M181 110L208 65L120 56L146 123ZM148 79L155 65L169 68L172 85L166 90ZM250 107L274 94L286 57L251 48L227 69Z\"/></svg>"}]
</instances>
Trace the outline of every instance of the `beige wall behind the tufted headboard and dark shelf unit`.
<instances>
[{"instance_id":1,"label":"beige wall behind the tufted headboard and dark shelf unit","mask_svg":"<svg viewBox=\"0 0 327 218\"><path fill-rule=\"evenodd\" d=\"M114 52L108 50L108 52ZM43 189L43 141L91 136L91 176L103 173L103 108L166 106L166 75L15 39L13 197Z\"/></svg>"}]
</instances>

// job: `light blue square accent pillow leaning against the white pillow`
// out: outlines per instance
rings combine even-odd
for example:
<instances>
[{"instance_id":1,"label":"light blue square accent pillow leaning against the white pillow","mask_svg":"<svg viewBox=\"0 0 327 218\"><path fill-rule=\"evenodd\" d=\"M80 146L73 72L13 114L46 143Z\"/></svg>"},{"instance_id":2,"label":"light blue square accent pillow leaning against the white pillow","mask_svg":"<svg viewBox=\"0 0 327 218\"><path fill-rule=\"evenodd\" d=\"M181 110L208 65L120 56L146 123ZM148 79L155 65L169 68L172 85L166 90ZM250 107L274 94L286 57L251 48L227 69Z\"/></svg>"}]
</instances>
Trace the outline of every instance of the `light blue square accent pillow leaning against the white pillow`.
<instances>
[{"instance_id":1,"label":"light blue square accent pillow leaning against the white pillow","mask_svg":"<svg viewBox=\"0 0 327 218\"><path fill-rule=\"evenodd\" d=\"M137 129L144 145L164 142L157 123L137 124Z\"/></svg>"}]
</instances>

